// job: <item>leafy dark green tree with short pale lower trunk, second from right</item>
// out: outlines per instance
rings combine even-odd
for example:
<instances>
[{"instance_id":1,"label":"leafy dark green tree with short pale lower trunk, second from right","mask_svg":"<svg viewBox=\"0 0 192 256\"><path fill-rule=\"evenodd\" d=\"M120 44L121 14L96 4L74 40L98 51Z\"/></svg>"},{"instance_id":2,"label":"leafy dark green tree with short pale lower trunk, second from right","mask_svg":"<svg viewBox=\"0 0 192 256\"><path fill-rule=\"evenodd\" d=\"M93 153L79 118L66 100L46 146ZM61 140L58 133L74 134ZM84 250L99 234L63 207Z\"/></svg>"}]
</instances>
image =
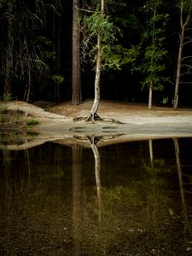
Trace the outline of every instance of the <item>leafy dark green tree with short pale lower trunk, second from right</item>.
<instances>
[{"instance_id":1,"label":"leafy dark green tree with short pale lower trunk, second from right","mask_svg":"<svg viewBox=\"0 0 192 256\"><path fill-rule=\"evenodd\" d=\"M158 9L162 5L161 0L148 0L144 5L144 12L148 15L147 31L143 32L142 47L144 58L141 70L144 75L143 87L148 87L148 109L152 108L153 90L163 90L164 82L168 81L164 72L166 70L165 56L167 50L165 42L165 24L168 18L166 14L159 14Z\"/></svg>"}]
</instances>

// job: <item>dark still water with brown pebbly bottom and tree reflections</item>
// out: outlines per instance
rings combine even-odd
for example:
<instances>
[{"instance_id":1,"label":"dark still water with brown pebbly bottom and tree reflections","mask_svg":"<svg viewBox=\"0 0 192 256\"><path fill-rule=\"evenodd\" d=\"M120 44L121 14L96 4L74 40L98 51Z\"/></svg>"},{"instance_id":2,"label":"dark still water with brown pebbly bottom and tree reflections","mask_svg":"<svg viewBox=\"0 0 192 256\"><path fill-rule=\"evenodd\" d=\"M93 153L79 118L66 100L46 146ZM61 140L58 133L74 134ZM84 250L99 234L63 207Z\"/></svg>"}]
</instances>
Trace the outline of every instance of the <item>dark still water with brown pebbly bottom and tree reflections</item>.
<instances>
[{"instance_id":1,"label":"dark still water with brown pebbly bottom and tree reflections","mask_svg":"<svg viewBox=\"0 0 192 256\"><path fill-rule=\"evenodd\" d=\"M192 138L0 149L0 255L191 255Z\"/></svg>"}]
</instances>

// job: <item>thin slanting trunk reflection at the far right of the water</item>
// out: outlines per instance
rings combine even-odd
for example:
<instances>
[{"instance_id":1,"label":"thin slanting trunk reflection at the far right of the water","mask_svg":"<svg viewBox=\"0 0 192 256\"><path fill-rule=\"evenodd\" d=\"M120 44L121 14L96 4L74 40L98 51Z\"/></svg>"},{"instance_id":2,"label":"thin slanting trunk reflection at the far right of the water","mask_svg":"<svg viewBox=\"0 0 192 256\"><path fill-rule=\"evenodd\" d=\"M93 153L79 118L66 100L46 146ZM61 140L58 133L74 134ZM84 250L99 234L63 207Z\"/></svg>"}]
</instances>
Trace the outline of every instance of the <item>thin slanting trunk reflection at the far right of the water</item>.
<instances>
[{"instance_id":1,"label":"thin slanting trunk reflection at the far right of the water","mask_svg":"<svg viewBox=\"0 0 192 256\"><path fill-rule=\"evenodd\" d=\"M184 199L183 177L182 177L179 145L178 145L177 138L173 138L173 142L174 142L174 146L175 146L175 155L176 155L176 161L177 161L179 189L180 189L180 195L181 195L181 200L182 200L182 205L183 205L183 217L184 217L184 221L185 221L185 229L187 230L188 229L188 215L187 215L186 202Z\"/></svg>"}]
</instances>

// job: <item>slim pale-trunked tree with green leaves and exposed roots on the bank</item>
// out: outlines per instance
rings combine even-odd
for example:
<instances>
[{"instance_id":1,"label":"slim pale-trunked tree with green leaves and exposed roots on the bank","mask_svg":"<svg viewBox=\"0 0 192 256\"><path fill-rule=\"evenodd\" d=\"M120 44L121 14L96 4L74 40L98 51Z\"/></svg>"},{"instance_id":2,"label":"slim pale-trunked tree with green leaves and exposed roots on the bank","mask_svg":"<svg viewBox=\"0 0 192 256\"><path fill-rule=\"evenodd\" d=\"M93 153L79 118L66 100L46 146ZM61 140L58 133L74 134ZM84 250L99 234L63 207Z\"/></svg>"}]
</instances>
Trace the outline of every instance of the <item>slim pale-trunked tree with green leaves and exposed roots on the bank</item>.
<instances>
[{"instance_id":1,"label":"slim pale-trunked tree with green leaves and exposed roots on the bank","mask_svg":"<svg viewBox=\"0 0 192 256\"><path fill-rule=\"evenodd\" d=\"M96 69L95 97L87 121L100 119L97 110L100 102L101 72L107 69L120 69L125 64L126 49L115 44L119 28L113 24L111 17L104 13L105 2L102 0L96 11L89 10L91 15L83 16L84 32L83 56L87 57ZM96 38L96 41L95 41ZM88 53L87 53L88 52Z\"/></svg>"}]
</instances>

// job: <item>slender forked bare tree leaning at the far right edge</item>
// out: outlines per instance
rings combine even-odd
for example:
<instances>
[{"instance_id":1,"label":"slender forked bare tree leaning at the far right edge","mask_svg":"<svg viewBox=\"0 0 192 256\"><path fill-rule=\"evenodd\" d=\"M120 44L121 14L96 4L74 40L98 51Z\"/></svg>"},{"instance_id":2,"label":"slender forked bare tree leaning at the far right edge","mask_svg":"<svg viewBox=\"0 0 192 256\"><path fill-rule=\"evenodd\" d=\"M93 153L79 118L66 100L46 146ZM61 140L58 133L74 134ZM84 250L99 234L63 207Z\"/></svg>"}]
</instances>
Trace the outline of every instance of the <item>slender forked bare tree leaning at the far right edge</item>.
<instances>
[{"instance_id":1,"label":"slender forked bare tree leaning at the far right edge","mask_svg":"<svg viewBox=\"0 0 192 256\"><path fill-rule=\"evenodd\" d=\"M176 110L178 105L178 90L181 78L181 68L182 62L185 58L183 58L183 46L184 46L184 33L186 27L189 25L189 20L191 18L191 9L192 9L192 1L191 0L181 0L179 4L180 9L180 33L179 33L179 48L178 48L178 56L177 56L177 75L175 82L175 93L174 93L174 103L173 108ZM186 17L184 18L184 13ZM191 39L190 39L191 41Z\"/></svg>"}]
</instances>

